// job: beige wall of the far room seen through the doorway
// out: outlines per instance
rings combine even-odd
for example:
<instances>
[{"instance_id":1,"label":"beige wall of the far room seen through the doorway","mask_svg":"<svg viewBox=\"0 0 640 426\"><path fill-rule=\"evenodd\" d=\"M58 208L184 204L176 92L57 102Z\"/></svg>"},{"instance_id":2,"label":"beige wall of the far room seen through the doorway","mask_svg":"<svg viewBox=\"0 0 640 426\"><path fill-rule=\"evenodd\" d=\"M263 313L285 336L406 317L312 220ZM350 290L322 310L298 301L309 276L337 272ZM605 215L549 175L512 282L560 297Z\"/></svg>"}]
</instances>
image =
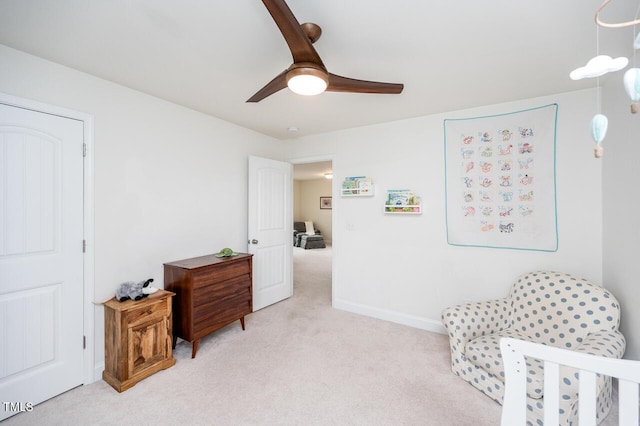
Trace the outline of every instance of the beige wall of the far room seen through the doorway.
<instances>
[{"instance_id":1,"label":"beige wall of the far room seen through the doorway","mask_svg":"<svg viewBox=\"0 0 640 426\"><path fill-rule=\"evenodd\" d=\"M331 244L332 223L330 209L320 208L320 197L331 197L332 181L327 179L310 179L295 181L298 188L295 192L294 204L299 207L294 208L294 220L313 221L314 228L322 232L325 242Z\"/></svg>"}]
</instances>

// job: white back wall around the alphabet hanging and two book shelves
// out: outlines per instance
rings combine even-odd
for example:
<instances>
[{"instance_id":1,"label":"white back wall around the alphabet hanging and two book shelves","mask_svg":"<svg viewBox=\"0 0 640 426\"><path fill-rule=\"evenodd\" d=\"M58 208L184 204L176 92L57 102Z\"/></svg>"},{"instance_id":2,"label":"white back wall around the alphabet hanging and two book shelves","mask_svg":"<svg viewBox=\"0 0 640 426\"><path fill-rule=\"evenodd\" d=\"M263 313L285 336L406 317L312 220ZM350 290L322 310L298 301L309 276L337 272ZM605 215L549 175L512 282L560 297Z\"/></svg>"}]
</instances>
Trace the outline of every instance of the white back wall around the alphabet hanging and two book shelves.
<instances>
[{"instance_id":1,"label":"white back wall around the alphabet hanging and two book shelves","mask_svg":"<svg viewBox=\"0 0 640 426\"><path fill-rule=\"evenodd\" d=\"M585 124L593 98L592 90L571 92L287 142L290 158L333 158L336 194L346 176L374 180L374 197L333 199L334 306L442 332L444 307L504 297L523 272L559 270L602 282L601 163L593 159ZM447 245L443 120L554 102L558 251ZM413 189L422 197L423 214L384 215L390 188Z\"/></svg>"}]
</instances>

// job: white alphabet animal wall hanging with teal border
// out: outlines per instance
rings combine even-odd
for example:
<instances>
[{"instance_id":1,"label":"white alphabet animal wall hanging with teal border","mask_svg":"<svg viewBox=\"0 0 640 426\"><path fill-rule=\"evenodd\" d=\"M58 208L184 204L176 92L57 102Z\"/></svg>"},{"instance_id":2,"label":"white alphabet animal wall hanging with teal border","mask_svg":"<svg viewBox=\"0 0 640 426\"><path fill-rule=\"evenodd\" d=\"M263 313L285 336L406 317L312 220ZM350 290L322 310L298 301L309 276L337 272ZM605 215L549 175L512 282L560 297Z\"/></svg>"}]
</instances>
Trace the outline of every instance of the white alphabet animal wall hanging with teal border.
<instances>
[{"instance_id":1,"label":"white alphabet animal wall hanging with teal border","mask_svg":"<svg viewBox=\"0 0 640 426\"><path fill-rule=\"evenodd\" d=\"M447 241L557 251L558 105L444 120Z\"/></svg>"}]
</instances>

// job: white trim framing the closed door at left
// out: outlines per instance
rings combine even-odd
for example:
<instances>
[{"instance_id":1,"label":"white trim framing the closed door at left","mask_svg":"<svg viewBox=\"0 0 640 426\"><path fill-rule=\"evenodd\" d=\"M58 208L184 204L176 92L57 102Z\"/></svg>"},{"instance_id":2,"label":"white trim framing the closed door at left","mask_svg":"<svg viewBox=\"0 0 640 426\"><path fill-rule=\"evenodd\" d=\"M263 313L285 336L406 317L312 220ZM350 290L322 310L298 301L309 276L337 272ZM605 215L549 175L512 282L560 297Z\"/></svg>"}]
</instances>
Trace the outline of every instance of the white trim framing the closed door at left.
<instances>
[{"instance_id":1,"label":"white trim framing the closed door at left","mask_svg":"<svg viewBox=\"0 0 640 426\"><path fill-rule=\"evenodd\" d=\"M83 238L85 250L83 258L83 334L85 336L83 384L93 383L101 377L95 368L95 306L94 297L94 235L93 235L93 115L67 108L49 105L31 99L19 98L0 92L0 103L45 114L78 120L83 123Z\"/></svg>"}]
</instances>

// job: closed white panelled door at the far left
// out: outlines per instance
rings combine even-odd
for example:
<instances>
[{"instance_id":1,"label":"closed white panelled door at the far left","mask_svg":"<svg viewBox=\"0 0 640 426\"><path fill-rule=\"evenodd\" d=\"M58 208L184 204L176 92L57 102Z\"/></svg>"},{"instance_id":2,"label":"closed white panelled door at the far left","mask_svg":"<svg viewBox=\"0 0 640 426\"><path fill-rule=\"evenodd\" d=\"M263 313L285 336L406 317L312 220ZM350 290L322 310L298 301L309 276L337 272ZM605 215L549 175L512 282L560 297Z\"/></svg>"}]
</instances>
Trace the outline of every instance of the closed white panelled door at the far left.
<instances>
[{"instance_id":1,"label":"closed white panelled door at the far left","mask_svg":"<svg viewBox=\"0 0 640 426\"><path fill-rule=\"evenodd\" d=\"M83 383L83 142L0 104L0 420Z\"/></svg>"}]
</instances>

